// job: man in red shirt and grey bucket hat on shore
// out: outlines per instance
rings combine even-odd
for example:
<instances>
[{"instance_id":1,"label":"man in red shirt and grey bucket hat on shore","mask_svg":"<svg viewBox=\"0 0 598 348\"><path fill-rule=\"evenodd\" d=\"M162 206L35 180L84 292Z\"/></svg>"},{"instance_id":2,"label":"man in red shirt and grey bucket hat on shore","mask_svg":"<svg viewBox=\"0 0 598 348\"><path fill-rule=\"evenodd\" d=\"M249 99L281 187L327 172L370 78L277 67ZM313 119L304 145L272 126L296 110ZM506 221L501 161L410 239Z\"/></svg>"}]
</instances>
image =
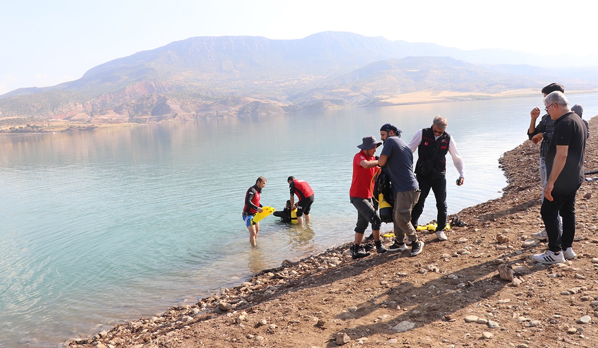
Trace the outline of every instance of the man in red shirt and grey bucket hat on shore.
<instances>
[{"instance_id":1,"label":"man in red shirt and grey bucket hat on shore","mask_svg":"<svg viewBox=\"0 0 598 348\"><path fill-rule=\"evenodd\" d=\"M386 252L386 248L380 241L380 216L374 206L372 192L372 178L377 172L378 161L374 153L378 146L382 145L373 135L362 138L359 151L353 156L353 179L349 190L351 204L357 209L357 223L355 224L355 241L351 246L353 258L361 258L370 255L361 245L364 239L364 232L368 224L372 224L372 235L376 252ZM370 244L371 246L371 244Z\"/></svg>"}]
</instances>

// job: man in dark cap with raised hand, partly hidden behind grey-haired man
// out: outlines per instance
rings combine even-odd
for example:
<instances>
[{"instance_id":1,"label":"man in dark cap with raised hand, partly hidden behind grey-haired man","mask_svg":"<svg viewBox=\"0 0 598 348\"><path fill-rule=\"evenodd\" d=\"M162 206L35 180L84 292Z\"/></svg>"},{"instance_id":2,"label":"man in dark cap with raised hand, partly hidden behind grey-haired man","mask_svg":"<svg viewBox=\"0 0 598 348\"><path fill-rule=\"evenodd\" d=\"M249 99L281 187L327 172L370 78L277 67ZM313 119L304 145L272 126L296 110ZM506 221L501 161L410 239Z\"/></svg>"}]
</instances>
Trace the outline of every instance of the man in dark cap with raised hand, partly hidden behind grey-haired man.
<instances>
[{"instance_id":1,"label":"man in dark cap with raised hand, partly hidden behind grey-haired man","mask_svg":"<svg viewBox=\"0 0 598 348\"><path fill-rule=\"evenodd\" d=\"M565 87L561 84L557 84L553 82L550 85L542 88L542 96L546 97L548 94L553 93L554 91L559 91L560 93L565 93ZM550 144L550 139L553 136L554 130L554 120L550 118L550 114L548 113L547 108L544 108L546 111L545 115L542 116L538 125L536 125L536 119L540 116L540 108L534 107L533 110L530 112L531 121L529 124L529 129L527 130L527 136L529 140L532 140L534 144L538 144L540 141L540 181L542 183L542 189L546 185L546 153L548 152L548 145ZM542 190L542 201L544 201L544 190ZM560 226L560 218L559 218L559 230L562 230ZM548 235L546 234L546 230L542 230L538 233L532 233L532 237L540 240L548 239Z\"/></svg>"}]
</instances>

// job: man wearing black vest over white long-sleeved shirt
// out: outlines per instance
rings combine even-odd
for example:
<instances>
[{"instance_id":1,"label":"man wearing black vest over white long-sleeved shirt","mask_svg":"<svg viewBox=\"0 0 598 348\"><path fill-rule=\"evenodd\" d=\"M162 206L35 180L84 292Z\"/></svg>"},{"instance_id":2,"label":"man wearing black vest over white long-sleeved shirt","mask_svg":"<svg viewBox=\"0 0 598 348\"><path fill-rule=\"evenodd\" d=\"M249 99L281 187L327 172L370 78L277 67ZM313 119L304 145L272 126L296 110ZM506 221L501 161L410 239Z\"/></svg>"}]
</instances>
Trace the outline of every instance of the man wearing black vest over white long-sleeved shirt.
<instances>
[{"instance_id":1,"label":"man wearing black vest over white long-sleeved shirt","mask_svg":"<svg viewBox=\"0 0 598 348\"><path fill-rule=\"evenodd\" d=\"M417 149L417 163L415 174L419 189L422 190L419 201L411 211L411 224L417 229L417 220L423 212L423 204L430 193L434 191L438 216L436 218L436 236L440 241L446 241L444 227L447 224L447 179L446 179L446 154L453 157L454 167L459 171L457 186L465 180L463 175L463 160L453 138L446 133L448 122L443 116L436 116L432 127L423 128L415 133L409 143L411 152Z\"/></svg>"}]
</instances>

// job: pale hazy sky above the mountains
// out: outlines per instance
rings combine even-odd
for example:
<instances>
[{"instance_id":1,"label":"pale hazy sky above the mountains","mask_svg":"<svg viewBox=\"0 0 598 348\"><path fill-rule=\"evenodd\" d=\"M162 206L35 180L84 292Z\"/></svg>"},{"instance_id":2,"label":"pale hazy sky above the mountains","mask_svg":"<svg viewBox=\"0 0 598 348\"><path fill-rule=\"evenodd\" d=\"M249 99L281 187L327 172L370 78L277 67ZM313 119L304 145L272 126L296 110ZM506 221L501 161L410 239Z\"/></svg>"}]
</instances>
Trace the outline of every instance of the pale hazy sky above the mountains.
<instances>
[{"instance_id":1,"label":"pale hazy sky above the mountains","mask_svg":"<svg viewBox=\"0 0 598 348\"><path fill-rule=\"evenodd\" d=\"M463 50L598 54L597 10L588 0L8 1L0 10L0 94L72 81L193 36L300 39L332 30Z\"/></svg>"}]
</instances>

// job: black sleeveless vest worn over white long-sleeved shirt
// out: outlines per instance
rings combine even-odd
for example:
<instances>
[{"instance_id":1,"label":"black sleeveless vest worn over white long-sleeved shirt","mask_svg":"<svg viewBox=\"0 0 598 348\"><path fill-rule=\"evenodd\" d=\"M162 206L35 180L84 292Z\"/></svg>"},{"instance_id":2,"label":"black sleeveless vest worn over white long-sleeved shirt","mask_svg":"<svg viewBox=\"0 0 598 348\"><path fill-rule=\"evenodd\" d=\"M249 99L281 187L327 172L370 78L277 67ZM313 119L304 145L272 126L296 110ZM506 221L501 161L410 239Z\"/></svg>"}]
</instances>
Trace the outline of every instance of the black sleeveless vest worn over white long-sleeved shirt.
<instances>
[{"instance_id":1,"label":"black sleeveless vest worn over white long-sleeved shirt","mask_svg":"<svg viewBox=\"0 0 598 348\"><path fill-rule=\"evenodd\" d=\"M446 175L446 154L449 152L450 135L444 133L434 138L432 127L422 129L422 142L417 147L417 164L415 173L427 178L442 178ZM438 147L436 156L434 150ZM434 159L432 160L432 157ZM423 170L427 168L427 170ZM425 171L426 173L422 173Z\"/></svg>"}]
</instances>

